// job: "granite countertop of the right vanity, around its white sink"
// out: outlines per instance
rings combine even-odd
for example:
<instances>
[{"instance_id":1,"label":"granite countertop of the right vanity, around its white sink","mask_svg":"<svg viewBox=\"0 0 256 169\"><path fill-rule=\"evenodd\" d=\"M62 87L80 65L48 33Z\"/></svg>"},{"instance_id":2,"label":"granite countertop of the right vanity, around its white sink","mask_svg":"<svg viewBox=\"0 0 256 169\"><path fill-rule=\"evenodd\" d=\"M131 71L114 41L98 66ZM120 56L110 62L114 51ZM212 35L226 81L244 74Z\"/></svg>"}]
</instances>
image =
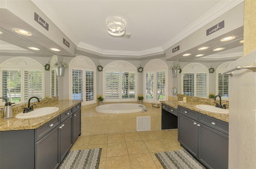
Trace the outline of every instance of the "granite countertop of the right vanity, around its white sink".
<instances>
[{"instance_id":1,"label":"granite countertop of the right vanity, around its white sink","mask_svg":"<svg viewBox=\"0 0 256 169\"><path fill-rule=\"evenodd\" d=\"M194 110L198 113L202 113L202 114L208 115L210 117L214 117L216 119L229 122L229 114L212 113L210 111L204 111L204 110L196 108L196 105L202 104L201 102L190 102L190 101L188 101L187 103L183 103L183 101L181 101L181 102L178 102L178 101L161 101L161 102L166 104L166 105L169 105L173 108L176 108L176 109L178 108L178 105L180 105L180 106L185 107L187 109Z\"/></svg>"}]
</instances>

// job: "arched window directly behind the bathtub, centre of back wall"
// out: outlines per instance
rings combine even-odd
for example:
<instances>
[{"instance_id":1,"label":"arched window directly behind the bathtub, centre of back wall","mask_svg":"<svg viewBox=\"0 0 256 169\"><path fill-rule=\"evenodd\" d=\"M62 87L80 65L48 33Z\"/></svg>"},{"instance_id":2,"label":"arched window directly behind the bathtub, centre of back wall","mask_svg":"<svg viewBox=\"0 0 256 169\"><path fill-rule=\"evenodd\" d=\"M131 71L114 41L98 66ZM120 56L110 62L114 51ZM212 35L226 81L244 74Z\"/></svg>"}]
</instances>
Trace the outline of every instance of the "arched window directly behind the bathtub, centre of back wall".
<instances>
[{"instance_id":1,"label":"arched window directly behind the bathtub, centre of back wall","mask_svg":"<svg viewBox=\"0 0 256 169\"><path fill-rule=\"evenodd\" d=\"M107 102L137 101L137 68L126 61L114 61L105 66L104 93Z\"/></svg>"}]
</instances>

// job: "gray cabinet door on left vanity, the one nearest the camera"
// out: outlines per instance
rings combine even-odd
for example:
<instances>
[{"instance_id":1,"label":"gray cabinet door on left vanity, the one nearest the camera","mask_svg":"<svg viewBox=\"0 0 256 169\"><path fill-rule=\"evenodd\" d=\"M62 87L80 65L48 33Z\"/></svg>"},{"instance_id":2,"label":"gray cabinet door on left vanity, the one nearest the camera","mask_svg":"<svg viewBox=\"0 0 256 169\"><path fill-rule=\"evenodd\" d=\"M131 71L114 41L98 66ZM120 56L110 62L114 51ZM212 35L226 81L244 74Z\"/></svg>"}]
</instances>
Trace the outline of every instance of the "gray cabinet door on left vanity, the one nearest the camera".
<instances>
[{"instance_id":1,"label":"gray cabinet door on left vanity, the one nearest the camera","mask_svg":"<svg viewBox=\"0 0 256 169\"><path fill-rule=\"evenodd\" d=\"M59 128L56 127L35 143L36 169L56 169L60 165L58 137Z\"/></svg>"}]
</instances>

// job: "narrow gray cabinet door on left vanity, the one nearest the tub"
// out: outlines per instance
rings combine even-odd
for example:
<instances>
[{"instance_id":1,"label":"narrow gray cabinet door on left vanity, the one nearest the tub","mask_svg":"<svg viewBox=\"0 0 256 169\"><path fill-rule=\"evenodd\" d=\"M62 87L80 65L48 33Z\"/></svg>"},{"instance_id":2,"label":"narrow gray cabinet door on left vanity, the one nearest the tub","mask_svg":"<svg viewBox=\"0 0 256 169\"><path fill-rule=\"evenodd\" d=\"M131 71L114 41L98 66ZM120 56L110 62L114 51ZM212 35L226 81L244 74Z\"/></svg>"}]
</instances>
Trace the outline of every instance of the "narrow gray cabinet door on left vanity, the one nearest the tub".
<instances>
[{"instance_id":1,"label":"narrow gray cabinet door on left vanity, the one nearest the tub","mask_svg":"<svg viewBox=\"0 0 256 169\"><path fill-rule=\"evenodd\" d=\"M81 109L73 114L73 143L81 133Z\"/></svg>"}]
</instances>

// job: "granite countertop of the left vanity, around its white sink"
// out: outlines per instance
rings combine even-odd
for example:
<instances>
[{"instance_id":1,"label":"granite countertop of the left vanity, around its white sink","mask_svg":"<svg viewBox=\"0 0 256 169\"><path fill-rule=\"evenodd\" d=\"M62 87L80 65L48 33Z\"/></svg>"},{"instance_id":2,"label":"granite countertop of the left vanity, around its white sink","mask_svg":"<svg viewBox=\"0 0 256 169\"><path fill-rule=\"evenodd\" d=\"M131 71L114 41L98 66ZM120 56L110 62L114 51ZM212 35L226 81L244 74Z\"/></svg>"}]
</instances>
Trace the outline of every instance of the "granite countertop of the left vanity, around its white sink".
<instances>
[{"instance_id":1,"label":"granite countertop of the left vanity, around its white sink","mask_svg":"<svg viewBox=\"0 0 256 169\"><path fill-rule=\"evenodd\" d=\"M42 105L40 107L59 107L59 110L50 115L44 115L41 117L17 119L15 115L18 113L14 113L11 118L0 118L0 131L37 129L81 101L82 100L58 100L48 103L47 105Z\"/></svg>"}]
</instances>

